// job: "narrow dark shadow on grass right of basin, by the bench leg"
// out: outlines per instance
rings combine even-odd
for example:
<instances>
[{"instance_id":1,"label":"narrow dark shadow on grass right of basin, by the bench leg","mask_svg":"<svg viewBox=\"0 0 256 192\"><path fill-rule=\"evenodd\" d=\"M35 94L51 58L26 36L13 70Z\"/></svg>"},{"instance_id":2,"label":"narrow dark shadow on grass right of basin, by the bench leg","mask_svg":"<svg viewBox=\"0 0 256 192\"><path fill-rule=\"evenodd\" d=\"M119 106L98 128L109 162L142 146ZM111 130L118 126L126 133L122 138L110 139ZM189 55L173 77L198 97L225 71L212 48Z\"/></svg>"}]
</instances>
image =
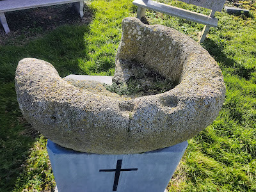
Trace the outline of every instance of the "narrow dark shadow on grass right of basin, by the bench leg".
<instances>
[{"instance_id":1,"label":"narrow dark shadow on grass right of basin, by the bench leg","mask_svg":"<svg viewBox=\"0 0 256 192\"><path fill-rule=\"evenodd\" d=\"M224 45L216 44L214 40L207 38L203 43L204 48L214 57L218 63L221 64L220 67L230 68L228 72L231 74L237 75L241 78L249 80L251 77L251 72L253 72L254 68L245 68L244 65L237 63L232 58L228 58L227 54L223 52Z\"/></svg>"}]
</instances>

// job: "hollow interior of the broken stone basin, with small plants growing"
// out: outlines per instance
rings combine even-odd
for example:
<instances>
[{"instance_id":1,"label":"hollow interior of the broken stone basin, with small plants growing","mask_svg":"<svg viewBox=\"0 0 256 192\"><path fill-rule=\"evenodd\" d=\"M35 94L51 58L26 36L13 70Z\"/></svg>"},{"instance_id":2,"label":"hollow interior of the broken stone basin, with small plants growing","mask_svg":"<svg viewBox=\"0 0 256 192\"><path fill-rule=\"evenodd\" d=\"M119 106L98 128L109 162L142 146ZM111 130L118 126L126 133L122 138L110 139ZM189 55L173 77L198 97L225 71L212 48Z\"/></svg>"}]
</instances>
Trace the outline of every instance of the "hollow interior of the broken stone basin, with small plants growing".
<instances>
[{"instance_id":1,"label":"hollow interior of the broken stone basin, with small plants growing","mask_svg":"<svg viewBox=\"0 0 256 192\"><path fill-rule=\"evenodd\" d=\"M131 22L132 20L132 22ZM189 50L174 29L150 26L140 20L122 22L122 40L116 54L116 70L109 90L122 94L125 86L139 93L132 97L155 95L180 83ZM179 34L178 34L179 35ZM191 43L191 42L190 42ZM193 46L191 47L193 49ZM117 89L116 89L117 87ZM142 90L142 93L140 93Z\"/></svg>"}]
</instances>

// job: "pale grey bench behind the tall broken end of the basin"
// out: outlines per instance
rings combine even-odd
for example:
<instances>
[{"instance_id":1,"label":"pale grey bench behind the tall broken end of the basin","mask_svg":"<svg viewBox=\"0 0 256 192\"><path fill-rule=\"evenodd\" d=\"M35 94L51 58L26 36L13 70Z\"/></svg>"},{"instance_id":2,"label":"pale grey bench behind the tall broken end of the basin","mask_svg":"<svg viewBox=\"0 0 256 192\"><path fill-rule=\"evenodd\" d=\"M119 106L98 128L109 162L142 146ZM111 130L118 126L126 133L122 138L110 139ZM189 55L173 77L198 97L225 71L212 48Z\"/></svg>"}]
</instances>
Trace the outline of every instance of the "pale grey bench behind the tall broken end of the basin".
<instances>
[{"instance_id":1,"label":"pale grey bench behind the tall broken end of the basin","mask_svg":"<svg viewBox=\"0 0 256 192\"><path fill-rule=\"evenodd\" d=\"M201 13L191 12L189 10L184 10L182 8L177 8L175 6L170 6L168 4L157 3L151 0L134 0L132 4L138 6L137 17L145 17L146 9L154 10L156 12L165 13L167 15L172 15L179 17L181 19L191 20L193 22L198 22L204 24L204 29L200 40L198 42L202 43L205 40L207 33L211 27L216 28L218 26L218 19L214 17L215 12L221 12L226 0L179 0L184 3L194 4L196 6L201 6L211 10L210 15L204 15Z\"/></svg>"}]
</instances>

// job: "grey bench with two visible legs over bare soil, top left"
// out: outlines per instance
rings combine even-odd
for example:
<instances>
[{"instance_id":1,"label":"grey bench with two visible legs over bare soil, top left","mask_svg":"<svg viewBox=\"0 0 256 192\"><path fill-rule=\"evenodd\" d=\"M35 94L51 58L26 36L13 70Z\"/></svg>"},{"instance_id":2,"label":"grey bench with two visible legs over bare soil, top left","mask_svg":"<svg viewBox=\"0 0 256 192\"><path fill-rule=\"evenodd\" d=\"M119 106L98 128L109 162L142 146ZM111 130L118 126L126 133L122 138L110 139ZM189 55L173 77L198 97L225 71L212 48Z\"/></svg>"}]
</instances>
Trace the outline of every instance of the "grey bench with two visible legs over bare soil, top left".
<instances>
[{"instance_id":1,"label":"grey bench with two visible legs over bare soil, top left","mask_svg":"<svg viewBox=\"0 0 256 192\"><path fill-rule=\"evenodd\" d=\"M26 10L30 8L37 8L42 6L52 6L56 4L73 3L76 6L77 11L80 13L80 17L83 17L84 1L82 0L4 0L0 1L0 21L3 25L5 33L10 33L9 26L4 15L5 12L13 12L17 10Z\"/></svg>"}]
</instances>

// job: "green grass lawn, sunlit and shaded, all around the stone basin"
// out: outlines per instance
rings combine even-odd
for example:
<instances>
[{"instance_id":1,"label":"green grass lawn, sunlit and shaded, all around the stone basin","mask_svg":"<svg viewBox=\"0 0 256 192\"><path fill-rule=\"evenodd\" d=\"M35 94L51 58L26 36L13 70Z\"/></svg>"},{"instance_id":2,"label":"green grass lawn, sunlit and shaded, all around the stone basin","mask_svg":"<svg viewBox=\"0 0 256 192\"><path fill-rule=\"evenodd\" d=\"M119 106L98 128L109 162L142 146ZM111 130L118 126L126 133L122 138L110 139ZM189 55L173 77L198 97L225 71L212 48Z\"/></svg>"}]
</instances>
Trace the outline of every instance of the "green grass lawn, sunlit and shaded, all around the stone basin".
<instances>
[{"instance_id":1,"label":"green grass lawn, sunlit and shaded, all around the stone basin","mask_svg":"<svg viewBox=\"0 0 256 192\"><path fill-rule=\"evenodd\" d=\"M161 0L169 3L169 0ZM189 146L169 191L256 191L256 1L240 1L249 15L216 13L202 44L218 62L227 93L220 115ZM112 76L121 21L135 16L132 0L94 0L79 18L69 5L6 13L12 33L0 26L0 191L52 191L46 139L22 118L14 87L22 58L38 58L68 74ZM209 10L171 4L200 13ZM147 11L150 24L175 28L197 40L204 26Z\"/></svg>"}]
</instances>

